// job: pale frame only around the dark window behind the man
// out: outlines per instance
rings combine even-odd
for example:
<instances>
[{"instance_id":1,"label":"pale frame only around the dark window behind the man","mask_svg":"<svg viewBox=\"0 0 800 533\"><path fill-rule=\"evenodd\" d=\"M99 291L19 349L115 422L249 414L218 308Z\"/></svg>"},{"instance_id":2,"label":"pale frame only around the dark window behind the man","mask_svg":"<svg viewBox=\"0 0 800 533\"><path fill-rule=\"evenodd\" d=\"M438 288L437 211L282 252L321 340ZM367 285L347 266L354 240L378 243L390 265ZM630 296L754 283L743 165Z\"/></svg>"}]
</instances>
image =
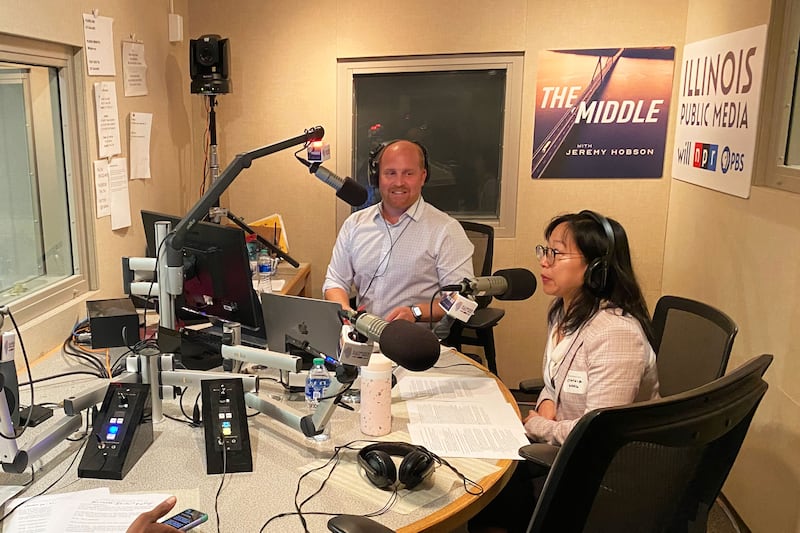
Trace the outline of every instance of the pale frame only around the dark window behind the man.
<instances>
[{"instance_id":1,"label":"pale frame only around the dark window behind the man","mask_svg":"<svg viewBox=\"0 0 800 533\"><path fill-rule=\"evenodd\" d=\"M522 83L524 56L520 53L340 58L337 65L336 166L353 169L353 79L360 74L428 72L447 70L506 71L506 98L500 170L500 214L498 218L475 220L494 227L495 237L513 237L516 229L519 149L522 126ZM424 191L423 191L424 196ZM337 202L336 223L340 227L350 208ZM461 217L459 217L461 218ZM464 218L464 220L470 220Z\"/></svg>"}]
</instances>

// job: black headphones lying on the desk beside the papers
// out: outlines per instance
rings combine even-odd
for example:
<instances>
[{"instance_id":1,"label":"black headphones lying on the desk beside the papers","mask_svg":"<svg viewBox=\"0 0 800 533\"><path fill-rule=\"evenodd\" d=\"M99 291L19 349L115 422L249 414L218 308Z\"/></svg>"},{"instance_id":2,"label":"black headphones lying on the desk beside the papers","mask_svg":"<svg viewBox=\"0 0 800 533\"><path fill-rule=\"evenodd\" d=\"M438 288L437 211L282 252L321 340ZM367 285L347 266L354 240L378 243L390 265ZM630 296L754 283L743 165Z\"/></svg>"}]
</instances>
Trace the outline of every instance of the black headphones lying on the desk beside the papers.
<instances>
[{"instance_id":1,"label":"black headphones lying on the desk beside the papers","mask_svg":"<svg viewBox=\"0 0 800 533\"><path fill-rule=\"evenodd\" d=\"M402 457L400 468L392 456ZM379 489L413 489L428 478L438 464L436 456L423 446L406 442L381 442L364 446L358 452L358 464L370 482Z\"/></svg>"}]
</instances>

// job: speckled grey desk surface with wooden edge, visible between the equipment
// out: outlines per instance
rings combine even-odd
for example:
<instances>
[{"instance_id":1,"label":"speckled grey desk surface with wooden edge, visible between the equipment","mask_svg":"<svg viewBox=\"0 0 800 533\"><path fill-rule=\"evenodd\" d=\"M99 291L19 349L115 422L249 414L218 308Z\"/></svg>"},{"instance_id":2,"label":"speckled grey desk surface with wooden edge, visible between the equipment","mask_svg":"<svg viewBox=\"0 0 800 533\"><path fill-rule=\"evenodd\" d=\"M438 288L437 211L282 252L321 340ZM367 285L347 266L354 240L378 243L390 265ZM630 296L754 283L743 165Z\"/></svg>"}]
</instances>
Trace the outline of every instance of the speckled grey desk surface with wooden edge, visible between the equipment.
<instances>
[{"instance_id":1,"label":"speckled grey desk surface with wooden edge, visible between the equipment","mask_svg":"<svg viewBox=\"0 0 800 533\"><path fill-rule=\"evenodd\" d=\"M437 367L450 366L455 362L467 361L466 358L453 351L447 351ZM81 368L74 360L61 353L55 353L40 360L33 367L34 379ZM439 372L437 368L429 372ZM443 372L443 371L442 371ZM472 365L459 365L447 369L448 375L476 376L483 375L483 370ZM57 382L61 383L57 383ZM36 402L57 402L72 394L80 394L89 388L101 384L96 378L59 379L43 382L36 386ZM499 382L498 382L499 383ZM506 398L515 405L508 389L502 383L500 389ZM187 413L191 413L195 396L199 388L190 387L185 394L183 405ZM282 394L277 384L262 380L259 395L277 397ZM23 389L22 402L27 403L28 390ZM395 400L398 402L399 400ZM290 402L291 403L291 402ZM297 407L297 405L295 405ZM393 403L393 412L395 411ZM182 418L178 400L165 400L163 411L166 415ZM54 418L60 415L57 410ZM393 431L404 430L407 418L393 416ZM45 423L38 428L29 429L22 438L21 446L29 445L36 435L35 430L47 428ZM253 466L251 473L228 474L224 478L218 500L221 531L259 531L262 524L273 515L294 510L294 494L300 471L304 465L320 459L328 459L333 453L334 445L342 445L350 441L365 439L358 429L357 412L336 409L331 419L331 440L326 443L311 443L299 433L279 422L258 415L249 419L250 439L253 448ZM36 479L23 495L36 494L62 473L64 478L49 493L73 492L98 487L109 487L113 493L150 492L167 493L178 496L177 507L196 507L209 515L206 524L195 529L198 533L216 530L214 516L215 496L220 487L221 475L206 475L205 445L203 429L191 428L185 423L165 418L154 424L154 442L139 459L136 465L122 481L99 479L83 479L77 477L77 463L83 451L80 443L64 442L55 450L43 457L41 464L36 465ZM72 466L72 458L78 459ZM342 457L342 464L355 463L356 452L348 451ZM407 533L413 531L452 531L477 513L491 496L498 492L513 471L514 461L478 460L497 464L499 470L480 480L486 495L476 498L464 493L461 485L454 485L445 496L432 504L410 514L389 511L375 520L392 529ZM351 466L352 467L352 466ZM436 474L434 474L435 476ZM12 476L0 474L3 483L22 483L29 474ZM301 495L310 494L318 483L313 480L303 482ZM379 492L380 489L374 489ZM386 498L390 496L385 492ZM304 513L324 511L333 513L366 514L374 512L371 504L359 501L352 493L338 491L327 486L320 495L304 506ZM327 531L328 517L307 515L310 531ZM288 533L302 531L296 516L273 521L264 531L280 531Z\"/></svg>"}]
</instances>

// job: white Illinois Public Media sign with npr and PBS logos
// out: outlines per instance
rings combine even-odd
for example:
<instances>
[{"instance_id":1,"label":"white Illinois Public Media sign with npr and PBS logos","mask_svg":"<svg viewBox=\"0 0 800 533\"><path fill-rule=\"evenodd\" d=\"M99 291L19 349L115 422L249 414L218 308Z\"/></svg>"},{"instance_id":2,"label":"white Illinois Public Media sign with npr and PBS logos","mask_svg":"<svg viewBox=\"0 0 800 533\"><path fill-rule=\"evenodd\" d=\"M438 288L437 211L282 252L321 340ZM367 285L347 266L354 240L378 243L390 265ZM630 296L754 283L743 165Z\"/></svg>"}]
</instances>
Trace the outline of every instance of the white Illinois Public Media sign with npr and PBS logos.
<instances>
[{"instance_id":1,"label":"white Illinois Public Media sign with npr and PBS logos","mask_svg":"<svg viewBox=\"0 0 800 533\"><path fill-rule=\"evenodd\" d=\"M687 44L672 177L750 197L767 26Z\"/></svg>"}]
</instances>

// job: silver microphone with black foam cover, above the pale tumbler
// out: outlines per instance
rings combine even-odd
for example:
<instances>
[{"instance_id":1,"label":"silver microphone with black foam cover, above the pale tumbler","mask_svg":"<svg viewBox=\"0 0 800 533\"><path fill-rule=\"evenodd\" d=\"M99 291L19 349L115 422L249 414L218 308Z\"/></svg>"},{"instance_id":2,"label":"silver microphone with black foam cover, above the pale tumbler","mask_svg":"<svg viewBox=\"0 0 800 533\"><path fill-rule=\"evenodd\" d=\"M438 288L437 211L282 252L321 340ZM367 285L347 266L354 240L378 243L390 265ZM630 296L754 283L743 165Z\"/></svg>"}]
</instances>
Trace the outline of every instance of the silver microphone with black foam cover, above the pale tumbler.
<instances>
[{"instance_id":1,"label":"silver microphone with black foam cover, above the pale tumbler","mask_svg":"<svg viewBox=\"0 0 800 533\"><path fill-rule=\"evenodd\" d=\"M432 331L406 320L386 320L368 313L342 311L355 330L378 341L383 355L408 370L428 370L439 360L439 340Z\"/></svg>"}]
</instances>

